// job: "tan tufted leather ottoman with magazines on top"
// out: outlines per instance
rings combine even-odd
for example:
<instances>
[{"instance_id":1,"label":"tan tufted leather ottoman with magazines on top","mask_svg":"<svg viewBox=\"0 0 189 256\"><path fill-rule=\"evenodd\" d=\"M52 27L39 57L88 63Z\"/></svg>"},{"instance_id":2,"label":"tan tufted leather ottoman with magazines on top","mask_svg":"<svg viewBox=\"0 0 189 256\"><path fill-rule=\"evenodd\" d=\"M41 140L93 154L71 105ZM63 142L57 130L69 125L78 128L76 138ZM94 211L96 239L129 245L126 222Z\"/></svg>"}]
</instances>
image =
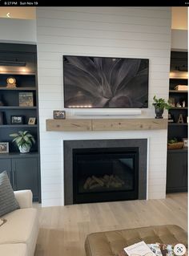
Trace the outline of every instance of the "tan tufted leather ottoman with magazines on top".
<instances>
[{"instance_id":1,"label":"tan tufted leather ottoman with magazines on top","mask_svg":"<svg viewBox=\"0 0 189 256\"><path fill-rule=\"evenodd\" d=\"M165 225L93 233L86 237L86 256L117 256L124 247L140 241L187 246L187 232L179 226Z\"/></svg>"}]
</instances>

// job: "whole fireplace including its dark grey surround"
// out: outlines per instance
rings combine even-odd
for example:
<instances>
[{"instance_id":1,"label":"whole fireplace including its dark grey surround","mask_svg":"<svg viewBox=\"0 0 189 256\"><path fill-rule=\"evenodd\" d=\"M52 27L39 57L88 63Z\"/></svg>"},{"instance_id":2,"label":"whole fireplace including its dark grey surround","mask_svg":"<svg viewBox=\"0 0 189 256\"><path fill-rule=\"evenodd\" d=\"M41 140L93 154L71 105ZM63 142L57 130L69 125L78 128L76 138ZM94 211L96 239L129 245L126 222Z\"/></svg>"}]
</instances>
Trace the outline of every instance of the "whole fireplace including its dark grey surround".
<instances>
[{"instance_id":1,"label":"whole fireplace including its dark grey surround","mask_svg":"<svg viewBox=\"0 0 189 256\"><path fill-rule=\"evenodd\" d=\"M65 205L147 198L147 139L65 140Z\"/></svg>"}]
</instances>

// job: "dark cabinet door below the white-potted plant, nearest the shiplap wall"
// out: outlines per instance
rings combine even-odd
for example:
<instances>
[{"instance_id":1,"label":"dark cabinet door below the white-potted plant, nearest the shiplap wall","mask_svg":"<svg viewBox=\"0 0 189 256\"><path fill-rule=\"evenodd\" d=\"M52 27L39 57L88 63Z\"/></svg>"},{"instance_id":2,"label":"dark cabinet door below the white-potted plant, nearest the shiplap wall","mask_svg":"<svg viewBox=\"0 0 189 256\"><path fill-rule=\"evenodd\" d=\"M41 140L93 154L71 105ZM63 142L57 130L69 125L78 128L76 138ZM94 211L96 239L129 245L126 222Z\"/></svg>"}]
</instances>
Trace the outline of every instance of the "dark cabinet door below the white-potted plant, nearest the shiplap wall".
<instances>
[{"instance_id":1,"label":"dark cabinet door below the white-potted plant, nearest the shiplap wall","mask_svg":"<svg viewBox=\"0 0 189 256\"><path fill-rule=\"evenodd\" d=\"M38 158L12 159L13 185L16 190L31 189L38 198Z\"/></svg>"}]
</instances>

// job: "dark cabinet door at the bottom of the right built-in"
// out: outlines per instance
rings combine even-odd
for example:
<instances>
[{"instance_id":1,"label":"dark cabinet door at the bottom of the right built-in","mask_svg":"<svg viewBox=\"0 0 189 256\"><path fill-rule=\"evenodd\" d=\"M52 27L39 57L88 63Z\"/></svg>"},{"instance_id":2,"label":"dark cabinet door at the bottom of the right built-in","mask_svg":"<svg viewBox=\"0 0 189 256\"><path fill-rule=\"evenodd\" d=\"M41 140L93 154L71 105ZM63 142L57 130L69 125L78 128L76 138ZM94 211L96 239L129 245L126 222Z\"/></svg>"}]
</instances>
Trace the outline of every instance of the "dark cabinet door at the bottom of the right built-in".
<instances>
[{"instance_id":1,"label":"dark cabinet door at the bottom of the right built-in","mask_svg":"<svg viewBox=\"0 0 189 256\"><path fill-rule=\"evenodd\" d=\"M167 154L167 192L187 191L187 152Z\"/></svg>"}]
</instances>

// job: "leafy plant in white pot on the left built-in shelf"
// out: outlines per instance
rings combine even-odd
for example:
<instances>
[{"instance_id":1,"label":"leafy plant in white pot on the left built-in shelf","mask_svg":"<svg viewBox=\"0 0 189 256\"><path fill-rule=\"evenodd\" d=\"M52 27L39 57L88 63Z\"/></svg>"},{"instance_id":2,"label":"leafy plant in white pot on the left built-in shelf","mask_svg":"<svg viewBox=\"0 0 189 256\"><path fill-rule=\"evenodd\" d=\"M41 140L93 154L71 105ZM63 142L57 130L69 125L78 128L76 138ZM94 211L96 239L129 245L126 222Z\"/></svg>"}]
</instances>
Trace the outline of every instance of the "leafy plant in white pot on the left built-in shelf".
<instances>
[{"instance_id":1,"label":"leafy plant in white pot on the left built-in shelf","mask_svg":"<svg viewBox=\"0 0 189 256\"><path fill-rule=\"evenodd\" d=\"M18 133L10 134L14 137L13 142L15 142L22 153L30 152L32 144L35 143L34 136L28 131L19 131Z\"/></svg>"}]
</instances>

